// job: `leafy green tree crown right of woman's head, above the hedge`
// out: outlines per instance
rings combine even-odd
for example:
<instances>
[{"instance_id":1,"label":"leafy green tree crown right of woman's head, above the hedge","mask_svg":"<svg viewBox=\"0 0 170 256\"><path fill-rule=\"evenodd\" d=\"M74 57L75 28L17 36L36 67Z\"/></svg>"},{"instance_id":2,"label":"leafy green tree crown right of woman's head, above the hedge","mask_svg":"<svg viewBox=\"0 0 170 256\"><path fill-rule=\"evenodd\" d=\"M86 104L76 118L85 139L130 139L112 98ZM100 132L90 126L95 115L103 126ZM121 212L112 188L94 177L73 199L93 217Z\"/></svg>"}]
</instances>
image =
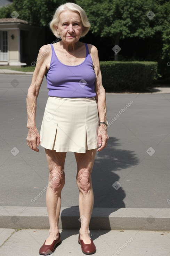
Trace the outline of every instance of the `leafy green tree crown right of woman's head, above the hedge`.
<instances>
[{"instance_id":1,"label":"leafy green tree crown right of woman's head, above the hedge","mask_svg":"<svg viewBox=\"0 0 170 256\"><path fill-rule=\"evenodd\" d=\"M86 11L91 21L92 33L101 37L109 36L114 45L119 45L120 39L124 38L154 37L157 31L163 29L163 24L159 22L160 16L162 17L160 9L161 5L167 2L160 0L76 1ZM169 28L168 31L170 31ZM118 60L116 52L114 57Z\"/></svg>"}]
</instances>

